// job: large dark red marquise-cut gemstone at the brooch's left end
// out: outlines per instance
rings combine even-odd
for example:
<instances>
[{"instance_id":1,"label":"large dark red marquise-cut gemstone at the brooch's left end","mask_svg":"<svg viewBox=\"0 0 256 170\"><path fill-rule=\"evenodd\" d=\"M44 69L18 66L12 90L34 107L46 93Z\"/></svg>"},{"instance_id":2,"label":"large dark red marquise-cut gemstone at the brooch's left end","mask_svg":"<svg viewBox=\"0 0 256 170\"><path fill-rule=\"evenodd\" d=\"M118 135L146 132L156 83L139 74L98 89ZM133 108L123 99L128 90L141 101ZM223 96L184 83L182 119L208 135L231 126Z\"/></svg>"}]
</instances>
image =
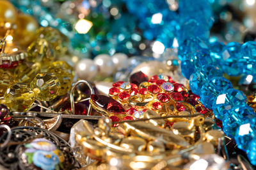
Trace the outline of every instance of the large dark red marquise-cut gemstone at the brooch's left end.
<instances>
[{"instance_id":1,"label":"large dark red marquise-cut gemstone at the brooch's left end","mask_svg":"<svg viewBox=\"0 0 256 170\"><path fill-rule=\"evenodd\" d=\"M105 111L115 112L118 114L125 112L122 104L116 102L116 100L111 97L107 97L104 95L91 95L91 99L95 105L97 105L101 109L104 109Z\"/></svg>"}]
</instances>

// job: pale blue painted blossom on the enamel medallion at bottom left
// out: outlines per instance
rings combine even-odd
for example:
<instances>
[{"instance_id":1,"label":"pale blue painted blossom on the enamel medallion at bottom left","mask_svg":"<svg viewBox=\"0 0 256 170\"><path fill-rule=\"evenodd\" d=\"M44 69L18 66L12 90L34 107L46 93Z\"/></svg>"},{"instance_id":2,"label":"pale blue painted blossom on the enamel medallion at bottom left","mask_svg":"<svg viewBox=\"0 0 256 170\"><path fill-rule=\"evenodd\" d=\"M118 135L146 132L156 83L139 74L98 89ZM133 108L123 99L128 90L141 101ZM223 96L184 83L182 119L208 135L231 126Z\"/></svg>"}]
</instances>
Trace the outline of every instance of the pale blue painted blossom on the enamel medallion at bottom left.
<instances>
[{"instance_id":1,"label":"pale blue painted blossom on the enamel medallion at bottom left","mask_svg":"<svg viewBox=\"0 0 256 170\"><path fill-rule=\"evenodd\" d=\"M59 164L58 156L52 151L36 151L33 155L35 166L44 170L53 170Z\"/></svg>"}]
</instances>

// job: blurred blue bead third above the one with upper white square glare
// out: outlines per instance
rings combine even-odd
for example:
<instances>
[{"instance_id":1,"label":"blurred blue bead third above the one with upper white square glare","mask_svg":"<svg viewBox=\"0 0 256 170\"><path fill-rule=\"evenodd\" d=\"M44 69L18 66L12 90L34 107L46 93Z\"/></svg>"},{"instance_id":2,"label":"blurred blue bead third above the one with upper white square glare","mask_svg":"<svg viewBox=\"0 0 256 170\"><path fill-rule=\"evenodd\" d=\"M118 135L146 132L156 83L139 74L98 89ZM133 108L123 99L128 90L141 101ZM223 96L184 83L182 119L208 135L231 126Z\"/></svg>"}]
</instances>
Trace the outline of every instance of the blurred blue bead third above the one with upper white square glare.
<instances>
[{"instance_id":1,"label":"blurred blue bead third above the one with upper white square glare","mask_svg":"<svg viewBox=\"0 0 256 170\"><path fill-rule=\"evenodd\" d=\"M180 61L184 61L189 56L203 49L208 50L208 44L202 39L199 37L188 38L184 42L179 43L178 58Z\"/></svg>"}]
</instances>

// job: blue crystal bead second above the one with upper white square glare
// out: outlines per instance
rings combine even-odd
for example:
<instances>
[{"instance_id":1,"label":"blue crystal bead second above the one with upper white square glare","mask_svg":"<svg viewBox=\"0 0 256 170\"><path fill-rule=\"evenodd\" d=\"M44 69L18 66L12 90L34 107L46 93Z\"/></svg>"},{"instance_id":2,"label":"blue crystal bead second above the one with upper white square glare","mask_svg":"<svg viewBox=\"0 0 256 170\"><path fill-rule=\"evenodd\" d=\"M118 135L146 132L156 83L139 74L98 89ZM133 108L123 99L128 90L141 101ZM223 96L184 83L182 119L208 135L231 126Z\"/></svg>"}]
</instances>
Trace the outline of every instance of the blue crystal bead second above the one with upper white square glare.
<instances>
[{"instance_id":1,"label":"blue crystal bead second above the one with upper white square glare","mask_svg":"<svg viewBox=\"0 0 256 170\"><path fill-rule=\"evenodd\" d=\"M204 65L211 65L209 50L199 50L188 56L188 58L180 63L181 73L189 79L191 73L195 72L196 68L201 68Z\"/></svg>"}]
</instances>

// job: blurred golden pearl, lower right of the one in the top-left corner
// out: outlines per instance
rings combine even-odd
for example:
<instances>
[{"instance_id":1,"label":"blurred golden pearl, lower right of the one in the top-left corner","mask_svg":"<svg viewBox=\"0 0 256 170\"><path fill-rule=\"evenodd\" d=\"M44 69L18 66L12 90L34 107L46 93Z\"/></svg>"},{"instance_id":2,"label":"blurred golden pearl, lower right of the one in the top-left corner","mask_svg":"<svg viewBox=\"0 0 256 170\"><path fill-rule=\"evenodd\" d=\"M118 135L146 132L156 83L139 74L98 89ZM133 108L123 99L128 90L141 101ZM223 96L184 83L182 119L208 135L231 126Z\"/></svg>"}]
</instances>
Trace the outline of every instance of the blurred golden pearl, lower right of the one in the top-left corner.
<instances>
[{"instance_id":1,"label":"blurred golden pearl, lower right of the one in the top-left corner","mask_svg":"<svg viewBox=\"0 0 256 170\"><path fill-rule=\"evenodd\" d=\"M16 26L14 40L17 40L20 45L26 46L35 40L38 24L33 17L20 13L17 16Z\"/></svg>"}]
</instances>

